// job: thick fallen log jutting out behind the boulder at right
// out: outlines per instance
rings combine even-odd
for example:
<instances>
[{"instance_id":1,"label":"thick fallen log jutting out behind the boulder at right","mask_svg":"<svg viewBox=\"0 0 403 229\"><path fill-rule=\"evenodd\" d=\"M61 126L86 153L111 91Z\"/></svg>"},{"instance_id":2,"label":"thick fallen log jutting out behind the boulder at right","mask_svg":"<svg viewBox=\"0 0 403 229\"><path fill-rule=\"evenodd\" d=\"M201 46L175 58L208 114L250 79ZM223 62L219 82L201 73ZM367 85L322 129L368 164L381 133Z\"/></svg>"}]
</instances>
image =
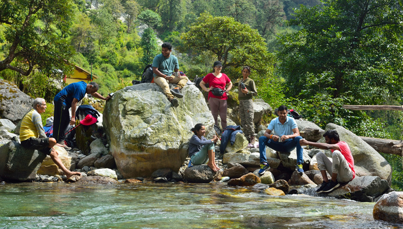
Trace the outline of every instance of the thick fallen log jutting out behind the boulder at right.
<instances>
[{"instance_id":1,"label":"thick fallen log jutting out behind the boulder at right","mask_svg":"<svg viewBox=\"0 0 403 229\"><path fill-rule=\"evenodd\" d=\"M361 137L368 145L370 145L377 152L385 153L385 154L395 154L402 156L403 153L403 141L399 140L390 140L390 139L382 139L382 138L373 138L373 137Z\"/></svg>"}]
</instances>

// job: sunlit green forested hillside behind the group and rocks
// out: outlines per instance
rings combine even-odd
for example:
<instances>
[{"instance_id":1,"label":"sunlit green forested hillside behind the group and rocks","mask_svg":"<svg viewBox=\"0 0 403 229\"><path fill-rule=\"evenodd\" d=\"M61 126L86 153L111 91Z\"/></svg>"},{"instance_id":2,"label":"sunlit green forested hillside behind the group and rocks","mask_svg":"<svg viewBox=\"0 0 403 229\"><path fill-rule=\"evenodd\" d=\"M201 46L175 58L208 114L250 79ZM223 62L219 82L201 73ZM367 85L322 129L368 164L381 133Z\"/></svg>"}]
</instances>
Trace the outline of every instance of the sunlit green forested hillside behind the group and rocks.
<instances>
[{"instance_id":1,"label":"sunlit green forested hillside behind the group and rocks","mask_svg":"<svg viewBox=\"0 0 403 229\"><path fill-rule=\"evenodd\" d=\"M0 78L52 102L55 80L74 64L92 68L105 96L141 78L159 38L190 79L219 60L237 82L247 65L258 98L273 108L401 140L401 111L342 105L403 105L402 1L0 0ZM403 190L401 157L382 155L392 188Z\"/></svg>"}]
</instances>

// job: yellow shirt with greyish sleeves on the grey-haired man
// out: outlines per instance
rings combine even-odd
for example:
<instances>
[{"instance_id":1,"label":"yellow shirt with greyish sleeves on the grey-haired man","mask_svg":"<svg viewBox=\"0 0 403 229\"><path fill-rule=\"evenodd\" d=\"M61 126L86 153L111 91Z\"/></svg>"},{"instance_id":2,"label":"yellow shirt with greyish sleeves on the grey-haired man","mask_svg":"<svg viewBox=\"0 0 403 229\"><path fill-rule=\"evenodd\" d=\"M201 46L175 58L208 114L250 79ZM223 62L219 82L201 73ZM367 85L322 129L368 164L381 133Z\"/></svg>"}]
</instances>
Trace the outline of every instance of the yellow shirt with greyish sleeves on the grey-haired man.
<instances>
[{"instance_id":1,"label":"yellow shirt with greyish sleeves on the grey-haired man","mask_svg":"<svg viewBox=\"0 0 403 229\"><path fill-rule=\"evenodd\" d=\"M46 137L45 130L42 126L41 115L36 109L31 109L30 112L22 118L21 127L19 129L19 139L21 141L27 140L30 137Z\"/></svg>"}]
</instances>

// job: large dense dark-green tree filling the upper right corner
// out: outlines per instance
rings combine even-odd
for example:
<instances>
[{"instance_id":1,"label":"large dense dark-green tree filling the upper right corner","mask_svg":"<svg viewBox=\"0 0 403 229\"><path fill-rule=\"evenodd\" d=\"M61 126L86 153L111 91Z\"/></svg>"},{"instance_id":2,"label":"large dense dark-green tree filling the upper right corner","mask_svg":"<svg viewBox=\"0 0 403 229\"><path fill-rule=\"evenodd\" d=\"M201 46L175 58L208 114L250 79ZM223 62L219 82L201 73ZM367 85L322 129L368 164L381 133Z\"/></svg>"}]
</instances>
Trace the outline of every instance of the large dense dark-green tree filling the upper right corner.
<instances>
[{"instance_id":1,"label":"large dense dark-green tree filling the upper right corner","mask_svg":"<svg viewBox=\"0 0 403 229\"><path fill-rule=\"evenodd\" d=\"M289 25L302 26L280 38L280 69L290 96L298 95L311 77L330 80L331 96L351 103L382 104L401 100L403 89L403 14L401 0L323 1L301 7ZM312 95L307 95L312 96Z\"/></svg>"}]
</instances>

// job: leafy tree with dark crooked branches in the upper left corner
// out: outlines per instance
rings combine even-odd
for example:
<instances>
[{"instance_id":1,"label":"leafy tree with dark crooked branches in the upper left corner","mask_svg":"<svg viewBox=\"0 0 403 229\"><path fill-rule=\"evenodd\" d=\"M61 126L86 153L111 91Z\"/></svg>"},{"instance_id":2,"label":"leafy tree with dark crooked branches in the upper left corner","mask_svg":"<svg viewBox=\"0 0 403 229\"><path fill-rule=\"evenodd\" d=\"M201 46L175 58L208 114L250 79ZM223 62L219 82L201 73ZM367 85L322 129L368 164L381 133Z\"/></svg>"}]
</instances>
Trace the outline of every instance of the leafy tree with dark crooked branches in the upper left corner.
<instances>
[{"instance_id":1,"label":"leafy tree with dark crooked branches in the upper left corner","mask_svg":"<svg viewBox=\"0 0 403 229\"><path fill-rule=\"evenodd\" d=\"M6 25L8 54L0 71L11 69L29 75L34 67L51 74L71 70L64 60L74 53L63 37L71 25L71 0L2 0L0 23ZM43 25L36 25L41 21Z\"/></svg>"}]
</instances>

